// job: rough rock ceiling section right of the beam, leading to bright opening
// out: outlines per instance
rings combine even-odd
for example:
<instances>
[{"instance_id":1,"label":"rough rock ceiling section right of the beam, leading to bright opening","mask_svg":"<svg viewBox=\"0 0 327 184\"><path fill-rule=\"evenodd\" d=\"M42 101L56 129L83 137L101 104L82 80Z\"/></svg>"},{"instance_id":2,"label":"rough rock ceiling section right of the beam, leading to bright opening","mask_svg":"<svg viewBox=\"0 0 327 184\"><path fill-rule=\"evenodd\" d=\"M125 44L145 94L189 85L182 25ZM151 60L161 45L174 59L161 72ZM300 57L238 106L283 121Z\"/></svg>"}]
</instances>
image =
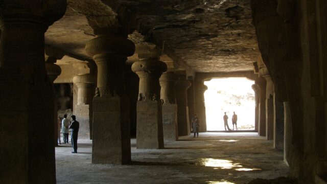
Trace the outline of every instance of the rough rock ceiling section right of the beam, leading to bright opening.
<instances>
[{"instance_id":1,"label":"rough rock ceiling section right of the beam, leading to bright opening","mask_svg":"<svg viewBox=\"0 0 327 184\"><path fill-rule=\"evenodd\" d=\"M250 0L102 2L118 13L123 25L196 72L252 70L258 58Z\"/></svg>"}]
</instances>

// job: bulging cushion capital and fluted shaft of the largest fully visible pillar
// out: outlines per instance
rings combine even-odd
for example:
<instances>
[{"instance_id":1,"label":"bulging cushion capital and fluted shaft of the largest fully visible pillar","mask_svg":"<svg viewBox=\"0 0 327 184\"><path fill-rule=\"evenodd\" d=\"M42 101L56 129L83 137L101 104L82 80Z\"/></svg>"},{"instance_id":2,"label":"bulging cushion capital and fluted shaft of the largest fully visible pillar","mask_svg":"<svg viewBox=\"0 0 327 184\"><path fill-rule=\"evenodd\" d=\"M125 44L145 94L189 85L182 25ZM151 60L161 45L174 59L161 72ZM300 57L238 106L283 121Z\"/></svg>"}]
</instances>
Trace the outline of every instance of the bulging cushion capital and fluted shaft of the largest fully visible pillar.
<instances>
[{"instance_id":1,"label":"bulging cushion capital and fluted shaft of the largest fully visible pillar","mask_svg":"<svg viewBox=\"0 0 327 184\"><path fill-rule=\"evenodd\" d=\"M134 43L125 35L97 35L85 46L98 66L96 96L120 96L125 93L124 64L133 55Z\"/></svg>"}]
</instances>

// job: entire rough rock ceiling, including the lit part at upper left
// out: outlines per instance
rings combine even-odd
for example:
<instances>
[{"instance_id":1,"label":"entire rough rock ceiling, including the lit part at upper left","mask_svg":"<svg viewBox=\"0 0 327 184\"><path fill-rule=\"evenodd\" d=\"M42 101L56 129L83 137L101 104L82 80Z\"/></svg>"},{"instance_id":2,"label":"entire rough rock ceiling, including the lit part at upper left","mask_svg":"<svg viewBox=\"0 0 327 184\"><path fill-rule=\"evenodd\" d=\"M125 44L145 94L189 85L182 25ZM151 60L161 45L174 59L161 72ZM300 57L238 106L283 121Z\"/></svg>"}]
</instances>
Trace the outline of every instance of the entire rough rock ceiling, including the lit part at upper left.
<instances>
[{"instance_id":1,"label":"entire rough rock ceiling, including the lit part at upper left","mask_svg":"<svg viewBox=\"0 0 327 184\"><path fill-rule=\"evenodd\" d=\"M124 27L129 34L141 33L161 54L195 72L249 71L258 58L250 0L67 2L65 16L49 28L45 39L71 57L91 59L84 51L88 40ZM132 40L139 37L133 34ZM133 41L137 46L144 40Z\"/></svg>"}]
</instances>

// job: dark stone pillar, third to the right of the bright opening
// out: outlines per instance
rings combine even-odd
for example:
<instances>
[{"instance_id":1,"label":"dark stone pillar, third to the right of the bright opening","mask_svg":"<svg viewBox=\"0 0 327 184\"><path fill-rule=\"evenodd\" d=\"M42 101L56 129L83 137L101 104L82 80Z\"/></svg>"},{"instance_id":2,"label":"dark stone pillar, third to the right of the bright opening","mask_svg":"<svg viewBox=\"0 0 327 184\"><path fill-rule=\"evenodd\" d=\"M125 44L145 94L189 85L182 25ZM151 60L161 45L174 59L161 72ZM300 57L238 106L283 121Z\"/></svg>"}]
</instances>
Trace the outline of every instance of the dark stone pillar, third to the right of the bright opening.
<instances>
[{"instance_id":1,"label":"dark stone pillar, third to the right of the bright opening","mask_svg":"<svg viewBox=\"0 0 327 184\"><path fill-rule=\"evenodd\" d=\"M274 93L274 136L273 147L277 150L284 149L284 104L276 99Z\"/></svg>"}]
</instances>

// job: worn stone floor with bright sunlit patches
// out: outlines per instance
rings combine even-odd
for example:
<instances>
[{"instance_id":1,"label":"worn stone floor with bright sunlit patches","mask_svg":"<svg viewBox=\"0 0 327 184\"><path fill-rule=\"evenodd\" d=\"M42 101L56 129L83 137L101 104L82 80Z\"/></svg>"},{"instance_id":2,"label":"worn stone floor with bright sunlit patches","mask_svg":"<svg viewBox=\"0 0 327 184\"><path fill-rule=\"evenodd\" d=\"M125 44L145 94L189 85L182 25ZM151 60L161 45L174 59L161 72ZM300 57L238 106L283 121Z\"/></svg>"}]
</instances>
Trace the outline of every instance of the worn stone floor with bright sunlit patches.
<instances>
[{"instance_id":1,"label":"worn stone floor with bright sunlit patches","mask_svg":"<svg viewBox=\"0 0 327 184\"><path fill-rule=\"evenodd\" d=\"M247 183L288 174L283 152L257 133L200 133L165 143L165 149L136 149L129 165L91 164L90 140L56 148L57 183ZM70 141L70 140L69 140Z\"/></svg>"}]
</instances>

